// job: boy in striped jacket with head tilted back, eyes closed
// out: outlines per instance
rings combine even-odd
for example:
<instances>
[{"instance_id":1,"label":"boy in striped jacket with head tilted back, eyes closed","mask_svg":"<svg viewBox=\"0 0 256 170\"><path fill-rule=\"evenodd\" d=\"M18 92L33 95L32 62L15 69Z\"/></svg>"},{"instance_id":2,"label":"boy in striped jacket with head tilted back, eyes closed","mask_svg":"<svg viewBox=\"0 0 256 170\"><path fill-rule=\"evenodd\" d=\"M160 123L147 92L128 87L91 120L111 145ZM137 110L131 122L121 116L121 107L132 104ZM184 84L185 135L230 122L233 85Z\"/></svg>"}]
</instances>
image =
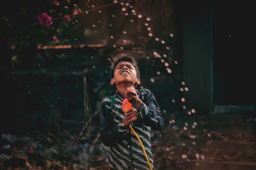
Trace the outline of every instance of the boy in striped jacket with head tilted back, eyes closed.
<instances>
[{"instance_id":1,"label":"boy in striped jacket with head tilted back, eyes closed","mask_svg":"<svg viewBox=\"0 0 256 170\"><path fill-rule=\"evenodd\" d=\"M113 78L110 83L116 87L115 100L104 97L100 106L100 138L110 147L109 169L150 169L140 141L129 125L140 137L153 167L150 133L151 128L159 130L163 127L160 108L150 90L136 90L141 81L138 63L133 57L115 57L111 69ZM125 113L122 111L124 99L132 103L132 108Z\"/></svg>"}]
</instances>

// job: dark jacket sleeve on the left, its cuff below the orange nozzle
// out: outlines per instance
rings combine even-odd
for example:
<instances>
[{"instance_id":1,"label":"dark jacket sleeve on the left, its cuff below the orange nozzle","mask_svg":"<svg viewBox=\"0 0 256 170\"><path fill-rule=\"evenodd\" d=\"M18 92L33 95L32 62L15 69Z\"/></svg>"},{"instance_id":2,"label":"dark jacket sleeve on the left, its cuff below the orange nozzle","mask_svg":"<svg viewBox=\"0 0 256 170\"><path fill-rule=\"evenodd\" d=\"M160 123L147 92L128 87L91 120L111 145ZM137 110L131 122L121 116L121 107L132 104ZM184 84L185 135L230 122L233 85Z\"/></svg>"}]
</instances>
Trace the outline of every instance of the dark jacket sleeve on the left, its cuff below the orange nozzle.
<instances>
[{"instance_id":1,"label":"dark jacket sleeve on the left, its cuff below the orange nozzle","mask_svg":"<svg viewBox=\"0 0 256 170\"><path fill-rule=\"evenodd\" d=\"M115 145L129 132L129 126L125 126L124 122L115 125L113 121L111 107L103 99L100 104L100 139L105 146Z\"/></svg>"}]
</instances>

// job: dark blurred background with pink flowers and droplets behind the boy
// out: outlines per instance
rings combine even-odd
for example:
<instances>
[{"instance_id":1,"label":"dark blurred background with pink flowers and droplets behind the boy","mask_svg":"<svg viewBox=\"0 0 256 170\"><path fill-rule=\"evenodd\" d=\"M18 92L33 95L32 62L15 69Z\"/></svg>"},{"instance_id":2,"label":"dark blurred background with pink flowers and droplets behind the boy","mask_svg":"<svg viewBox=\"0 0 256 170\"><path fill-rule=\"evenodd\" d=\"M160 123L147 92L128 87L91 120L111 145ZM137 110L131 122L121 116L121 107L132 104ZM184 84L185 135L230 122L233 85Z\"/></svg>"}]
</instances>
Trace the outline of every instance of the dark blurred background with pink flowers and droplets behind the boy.
<instances>
[{"instance_id":1,"label":"dark blurred background with pink flowers and droplets behind the boy","mask_svg":"<svg viewBox=\"0 0 256 170\"><path fill-rule=\"evenodd\" d=\"M164 117L155 169L255 169L252 4L3 1L0 169L107 169L110 62L138 60Z\"/></svg>"}]
</instances>

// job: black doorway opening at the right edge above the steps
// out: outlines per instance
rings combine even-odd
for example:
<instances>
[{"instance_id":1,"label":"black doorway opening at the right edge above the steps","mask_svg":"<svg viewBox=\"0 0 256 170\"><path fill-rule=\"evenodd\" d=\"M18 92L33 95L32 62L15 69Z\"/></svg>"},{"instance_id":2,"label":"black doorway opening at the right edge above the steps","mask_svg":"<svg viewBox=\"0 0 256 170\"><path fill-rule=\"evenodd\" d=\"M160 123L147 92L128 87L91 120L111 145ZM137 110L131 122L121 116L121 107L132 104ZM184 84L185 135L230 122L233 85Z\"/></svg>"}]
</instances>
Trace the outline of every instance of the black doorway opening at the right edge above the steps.
<instances>
[{"instance_id":1,"label":"black doorway opening at the right edge above the steps","mask_svg":"<svg viewBox=\"0 0 256 170\"><path fill-rule=\"evenodd\" d=\"M234 1L214 4L214 104L256 104L252 7Z\"/></svg>"}]
</instances>

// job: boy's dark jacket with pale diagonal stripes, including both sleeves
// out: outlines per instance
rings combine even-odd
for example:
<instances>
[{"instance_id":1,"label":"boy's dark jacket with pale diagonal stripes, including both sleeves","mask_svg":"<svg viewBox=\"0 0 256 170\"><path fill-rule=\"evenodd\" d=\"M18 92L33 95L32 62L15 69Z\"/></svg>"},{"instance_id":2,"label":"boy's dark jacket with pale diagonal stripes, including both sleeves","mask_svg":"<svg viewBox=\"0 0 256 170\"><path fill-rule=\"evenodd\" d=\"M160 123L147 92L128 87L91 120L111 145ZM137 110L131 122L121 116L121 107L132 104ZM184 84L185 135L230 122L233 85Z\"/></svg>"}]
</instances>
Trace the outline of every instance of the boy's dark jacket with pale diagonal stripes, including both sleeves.
<instances>
[{"instance_id":1,"label":"boy's dark jacket with pale diagonal stripes, including both sleeves","mask_svg":"<svg viewBox=\"0 0 256 170\"><path fill-rule=\"evenodd\" d=\"M157 101L148 89L136 90L143 101L139 117L132 122L134 131L138 134L153 168L151 152L151 128L159 130L163 127L163 117ZM118 92L111 109L111 97L104 97L100 105L100 138L102 143L109 146L108 165L114 169L150 169L141 148L140 141L129 126L124 125L123 98ZM138 110L138 109L137 109Z\"/></svg>"}]
</instances>

